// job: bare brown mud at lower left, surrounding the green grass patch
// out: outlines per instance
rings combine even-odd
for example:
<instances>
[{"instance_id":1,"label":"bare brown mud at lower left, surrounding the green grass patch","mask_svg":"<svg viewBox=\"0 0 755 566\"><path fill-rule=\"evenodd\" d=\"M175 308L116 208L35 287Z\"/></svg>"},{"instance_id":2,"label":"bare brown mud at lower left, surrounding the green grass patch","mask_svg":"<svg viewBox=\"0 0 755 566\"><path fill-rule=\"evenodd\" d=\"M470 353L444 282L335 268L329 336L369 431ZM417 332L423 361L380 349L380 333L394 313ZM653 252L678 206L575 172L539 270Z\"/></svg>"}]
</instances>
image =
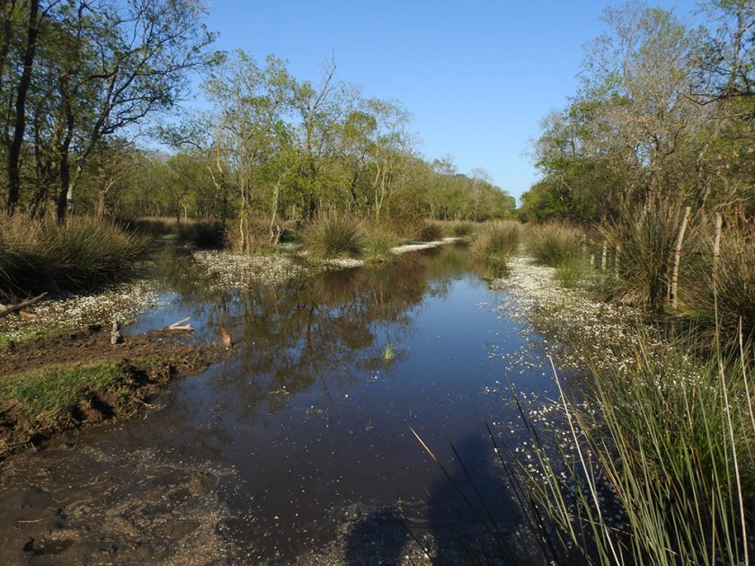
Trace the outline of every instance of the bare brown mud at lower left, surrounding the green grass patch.
<instances>
[{"instance_id":1,"label":"bare brown mud at lower left, surrounding the green grass patch","mask_svg":"<svg viewBox=\"0 0 755 566\"><path fill-rule=\"evenodd\" d=\"M231 472L172 462L147 449L105 453L79 443L82 429L107 435L122 417L144 411L144 400L168 381L208 367L222 351L159 334L124 338L113 345L109 328L89 326L0 349L0 380L110 359L127 360L142 375L133 402L89 406L69 428L37 438L13 426L13 411L0 402L0 447L13 447L0 450L0 564L234 562L224 535L227 508L218 495ZM91 427L106 421L111 424L101 430Z\"/></svg>"}]
</instances>

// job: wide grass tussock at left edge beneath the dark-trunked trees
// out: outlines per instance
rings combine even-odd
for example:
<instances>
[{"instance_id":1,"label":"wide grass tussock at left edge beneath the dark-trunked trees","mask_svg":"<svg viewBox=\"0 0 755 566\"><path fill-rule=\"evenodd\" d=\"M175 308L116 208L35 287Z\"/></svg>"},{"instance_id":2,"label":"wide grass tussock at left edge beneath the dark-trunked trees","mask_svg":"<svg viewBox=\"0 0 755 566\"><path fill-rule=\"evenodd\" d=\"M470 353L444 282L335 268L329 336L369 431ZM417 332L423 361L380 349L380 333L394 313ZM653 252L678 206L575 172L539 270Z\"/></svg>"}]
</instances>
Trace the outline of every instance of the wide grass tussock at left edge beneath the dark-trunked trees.
<instances>
[{"instance_id":1,"label":"wide grass tussock at left edge beneath the dark-trunked trees","mask_svg":"<svg viewBox=\"0 0 755 566\"><path fill-rule=\"evenodd\" d=\"M0 217L0 292L76 291L128 279L149 238L93 217Z\"/></svg>"}]
</instances>

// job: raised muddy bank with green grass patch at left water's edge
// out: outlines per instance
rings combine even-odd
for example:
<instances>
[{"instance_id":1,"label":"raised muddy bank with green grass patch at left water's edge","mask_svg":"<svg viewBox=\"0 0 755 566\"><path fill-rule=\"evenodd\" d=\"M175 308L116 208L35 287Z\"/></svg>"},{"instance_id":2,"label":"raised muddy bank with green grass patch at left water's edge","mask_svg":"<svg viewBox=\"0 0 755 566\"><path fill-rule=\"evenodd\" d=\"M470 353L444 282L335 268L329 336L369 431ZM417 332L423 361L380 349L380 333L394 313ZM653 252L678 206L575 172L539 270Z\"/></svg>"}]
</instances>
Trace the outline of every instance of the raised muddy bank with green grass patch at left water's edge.
<instances>
[{"instance_id":1,"label":"raised muddy bank with green grass patch at left water's edge","mask_svg":"<svg viewBox=\"0 0 755 566\"><path fill-rule=\"evenodd\" d=\"M191 346L159 335L127 336L113 345L110 329L90 325L82 330L50 332L0 347L0 460L23 447L40 445L61 430L132 416L143 410L145 400L176 376L199 372L218 359L222 348ZM119 372L107 386L81 387L81 394L67 411L50 415L49 408L30 407L22 394L3 385L31 380L40 372L69 371L102 362ZM107 367L107 364L105 364ZM82 373L84 373L82 371ZM76 375L72 376L76 380ZM83 379L83 377L81 378ZM44 394L54 396L55 391Z\"/></svg>"}]
</instances>

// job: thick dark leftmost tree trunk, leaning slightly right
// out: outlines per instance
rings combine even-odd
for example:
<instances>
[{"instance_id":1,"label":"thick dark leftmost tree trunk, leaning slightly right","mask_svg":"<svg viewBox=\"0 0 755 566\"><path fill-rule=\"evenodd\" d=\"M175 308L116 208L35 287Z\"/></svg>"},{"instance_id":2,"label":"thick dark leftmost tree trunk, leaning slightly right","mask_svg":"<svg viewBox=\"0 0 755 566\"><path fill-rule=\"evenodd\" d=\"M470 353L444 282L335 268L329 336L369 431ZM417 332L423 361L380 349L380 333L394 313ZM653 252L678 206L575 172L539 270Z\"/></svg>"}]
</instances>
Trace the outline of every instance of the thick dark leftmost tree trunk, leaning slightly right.
<instances>
[{"instance_id":1,"label":"thick dark leftmost tree trunk, leaning slightly right","mask_svg":"<svg viewBox=\"0 0 755 566\"><path fill-rule=\"evenodd\" d=\"M13 140L8 148L8 212L13 214L18 208L21 195L21 149L23 133L26 128L26 95L31 86L31 71L34 66L34 54L37 49L37 38L40 34L40 0L30 0L29 29L26 34L26 49L23 52L23 71L16 89L15 125Z\"/></svg>"}]
</instances>

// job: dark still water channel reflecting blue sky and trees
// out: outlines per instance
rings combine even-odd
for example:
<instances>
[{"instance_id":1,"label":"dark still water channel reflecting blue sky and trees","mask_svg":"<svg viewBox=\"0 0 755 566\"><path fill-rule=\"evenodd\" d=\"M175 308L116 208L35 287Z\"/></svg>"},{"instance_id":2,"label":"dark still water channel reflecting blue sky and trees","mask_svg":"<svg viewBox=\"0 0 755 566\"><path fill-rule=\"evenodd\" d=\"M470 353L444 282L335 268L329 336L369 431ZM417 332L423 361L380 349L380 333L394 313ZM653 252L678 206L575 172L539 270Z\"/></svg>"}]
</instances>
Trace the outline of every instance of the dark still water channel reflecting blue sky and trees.
<instances>
[{"instance_id":1,"label":"dark still water channel reflecting blue sky and trees","mask_svg":"<svg viewBox=\"0 0 755 566\"><path fill-rule=\"evenodd\" d=\"M218 532L221 546L235 549L232 562L316 562L324 554L324 562L393 563L413 535L454 556L475 516L412 428L465 483L450 440L499 525L516 528L485 422L516 446L524 437L507 376L524 395L555 392L537 340L526 323L496 310L510 297L488 288L466 249L236 291L197 286L188 258L165 267L167 304L129 331L191 315L194 340L219 341L224 313L235 348L171 385L145 419L84 431L60 455L24 455L23 466L46 458L68 485L108 474L123 498L155 468L165 478L199 470L200 482L213 479L203 497L212 491L212 505L227 509ZM145 468L137 478L135 466ZM0 486L11 504L42 485L20 468L6 470ZM54 481L46 476L39 489L63 499L67 488ZM170 494L176 486L165 481Z\"/></svg>"}]
</instances>

